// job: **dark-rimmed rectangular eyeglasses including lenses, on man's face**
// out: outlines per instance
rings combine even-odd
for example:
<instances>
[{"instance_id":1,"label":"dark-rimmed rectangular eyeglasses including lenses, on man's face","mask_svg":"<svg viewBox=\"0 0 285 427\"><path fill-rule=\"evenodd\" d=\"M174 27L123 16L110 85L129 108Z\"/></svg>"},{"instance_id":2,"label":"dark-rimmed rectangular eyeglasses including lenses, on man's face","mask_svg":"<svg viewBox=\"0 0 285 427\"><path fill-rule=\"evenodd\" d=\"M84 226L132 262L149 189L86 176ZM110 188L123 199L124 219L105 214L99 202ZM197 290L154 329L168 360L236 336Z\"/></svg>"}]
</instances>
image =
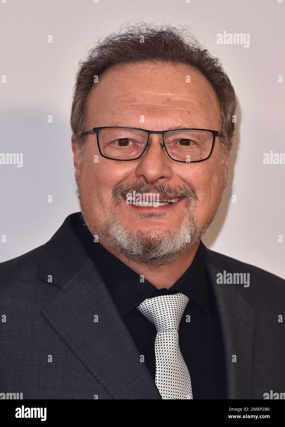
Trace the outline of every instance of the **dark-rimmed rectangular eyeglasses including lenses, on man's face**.
<instances>
[{"instance_id":1,"label":"dark-rimmed rectangular eyeglasses including lenses, on man's face","mask_svg":"<svg viewBox=\"0 0 285 427\"><path fill-rule=\"evenodd\" d=\"M136 160L150 146L150 134L161 134L162 148L172 160L194 163L207 160L212 154L218 131L209 129L172 129L150 131L122 126L102 126L93 128L85 135L96 132L100 154L111 160Z\"/></svg>"}]
</instances>

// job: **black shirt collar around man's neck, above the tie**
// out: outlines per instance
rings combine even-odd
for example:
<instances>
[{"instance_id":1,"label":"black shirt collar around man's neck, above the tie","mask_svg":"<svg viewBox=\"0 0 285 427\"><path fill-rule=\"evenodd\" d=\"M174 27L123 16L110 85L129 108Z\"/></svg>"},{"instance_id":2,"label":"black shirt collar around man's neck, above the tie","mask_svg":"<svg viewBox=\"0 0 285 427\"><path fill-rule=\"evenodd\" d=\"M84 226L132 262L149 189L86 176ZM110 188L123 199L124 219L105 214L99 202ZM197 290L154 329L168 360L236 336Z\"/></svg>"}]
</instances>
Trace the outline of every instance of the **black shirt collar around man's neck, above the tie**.
<instances>
[{"instance_id":1,"label":"black shirt collar around man's neck, above the tie","mask_svg":"<svg viewBox=\"0 0 285 427\"><path fill-rule=\"evenodd\" d=\"M182 292L195 304L212 314L209 286L206 280L203 244L200 242L194 260L186 272L169 289L157 289L147 280L115 257L100 243L94 243L93 236L79 216L73 223L84 247L98 268L102 278L122 317L134 310L146 298L169 293Z\"/></svg>"}]
</instances>

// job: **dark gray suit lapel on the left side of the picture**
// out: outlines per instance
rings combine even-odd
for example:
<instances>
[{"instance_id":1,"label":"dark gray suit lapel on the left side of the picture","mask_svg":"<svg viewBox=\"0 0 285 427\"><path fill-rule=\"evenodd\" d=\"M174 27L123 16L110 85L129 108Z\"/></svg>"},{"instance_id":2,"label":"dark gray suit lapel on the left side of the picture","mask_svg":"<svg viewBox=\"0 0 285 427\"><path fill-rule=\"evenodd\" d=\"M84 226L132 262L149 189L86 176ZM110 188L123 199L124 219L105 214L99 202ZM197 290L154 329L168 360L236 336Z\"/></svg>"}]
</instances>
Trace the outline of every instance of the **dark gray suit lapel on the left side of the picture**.
<instances>
[{"instance_id":1,"label":"dark gray suit lapel on the left side of the picture","mask_svg":"<svg viewBox=\"0 0 285 427\"><path fill-rule=\"evenodd\" d=\"M57 233L44 249L39 275L47 278L52 271L62 287L42 309L44 318L111 398L161 399L101 275L67 220L62 228L68 233Z\"/></svg>"}]
</instances>

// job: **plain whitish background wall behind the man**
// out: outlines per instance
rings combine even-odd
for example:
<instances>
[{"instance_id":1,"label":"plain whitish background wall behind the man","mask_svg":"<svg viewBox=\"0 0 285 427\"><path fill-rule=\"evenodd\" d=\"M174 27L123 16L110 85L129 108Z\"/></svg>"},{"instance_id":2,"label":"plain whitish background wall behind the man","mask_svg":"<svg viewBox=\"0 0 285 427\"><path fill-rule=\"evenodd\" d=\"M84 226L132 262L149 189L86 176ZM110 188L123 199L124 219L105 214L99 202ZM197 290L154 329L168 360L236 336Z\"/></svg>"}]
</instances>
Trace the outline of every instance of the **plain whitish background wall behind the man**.
<instances>
[{"instance_id":1,"label":"plain whitish background wall behind the man","mask_svg":"<svg viewBox=\"0 0 285 427\"><path fill-rule=\"evenodd\" d=\"M227 194L204 243L285 278L285 242L278 243L279 235L285 239L285 165L263 163L264 153L285 152L285 83L278 82L285 75L285 1L3 1L0 152L23 152L23 167L0 165L0 236L7 236L0 261L45 243L79 210L69 125L79 59L98 37L143 19L192 27L223 62L238 97ZM250 47L218 45L223 31L250 33Z\"/></svg>"}]
</instances>

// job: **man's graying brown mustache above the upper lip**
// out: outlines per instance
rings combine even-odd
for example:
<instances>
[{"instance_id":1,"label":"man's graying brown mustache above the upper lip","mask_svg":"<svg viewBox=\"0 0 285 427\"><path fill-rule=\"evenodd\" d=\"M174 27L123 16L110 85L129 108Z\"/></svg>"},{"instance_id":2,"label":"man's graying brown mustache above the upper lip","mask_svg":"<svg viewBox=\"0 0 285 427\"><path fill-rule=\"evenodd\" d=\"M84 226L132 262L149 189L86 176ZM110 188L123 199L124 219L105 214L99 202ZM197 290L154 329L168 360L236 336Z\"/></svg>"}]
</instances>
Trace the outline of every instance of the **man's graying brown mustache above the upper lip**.
<instances>
[{"instance_id":1,"label":"man's graying brown mustache above the upper lip","mask_svg":"<svg viewBox=\"0 0 285 427\"><path fill-rule=\"evenodd\" d=\"M148 185L143 182L130 183L130 184L117 184L113 189L113 201L118 202L121 194L132 193L159 193L160 196L168 196L169 194L175 194L180 197L186 197L188 200L198 201L198 197L195 190L192 187L186 185L175 185L175 184L157 184Z\"/></svg>"}]
</instances>

